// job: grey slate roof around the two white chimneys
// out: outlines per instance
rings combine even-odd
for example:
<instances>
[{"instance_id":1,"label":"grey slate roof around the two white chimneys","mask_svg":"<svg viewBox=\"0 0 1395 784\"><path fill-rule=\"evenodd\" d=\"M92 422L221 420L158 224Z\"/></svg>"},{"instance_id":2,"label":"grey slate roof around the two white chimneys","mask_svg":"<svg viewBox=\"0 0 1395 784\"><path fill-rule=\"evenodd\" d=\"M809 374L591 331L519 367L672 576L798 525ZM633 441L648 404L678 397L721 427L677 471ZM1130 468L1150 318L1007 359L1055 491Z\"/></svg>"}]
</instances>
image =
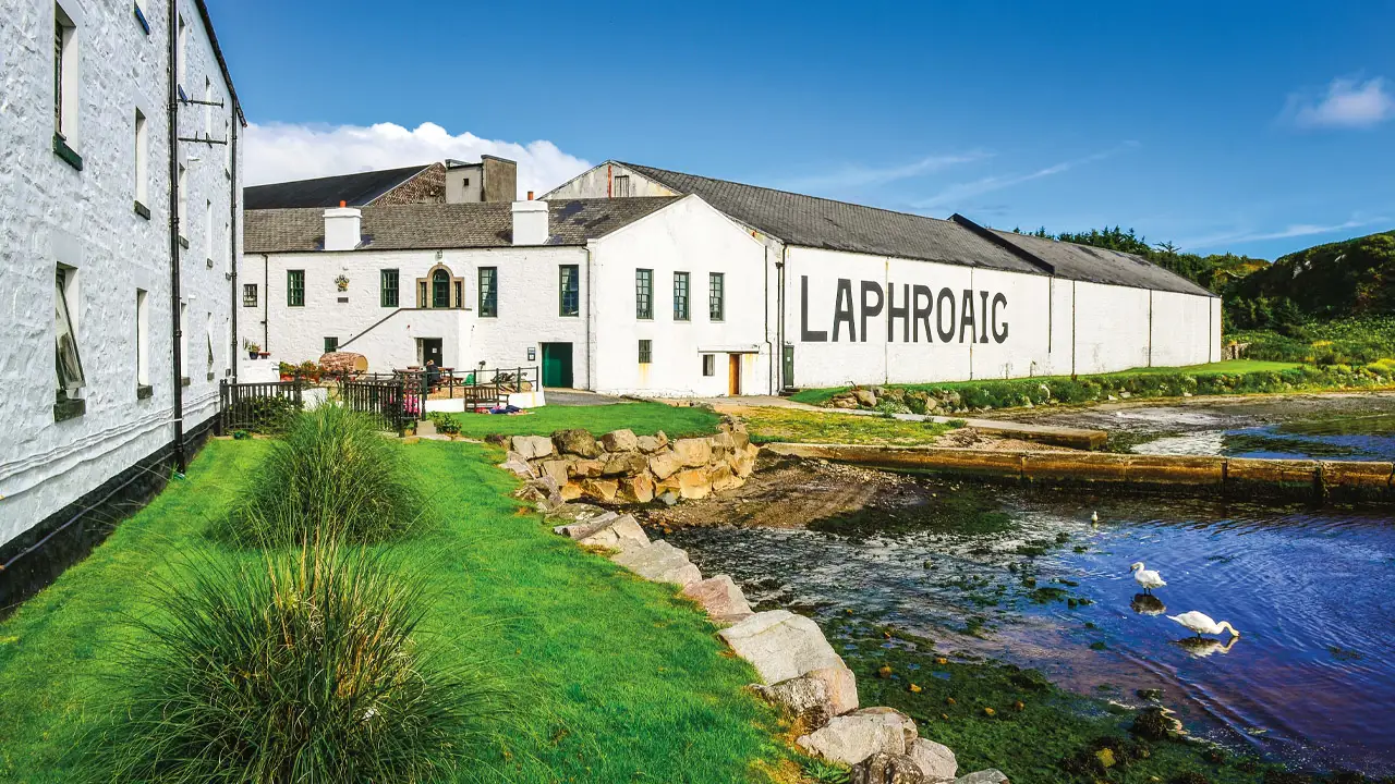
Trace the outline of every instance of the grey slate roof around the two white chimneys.
<instances>
[{"instance_id":1,"label":"grey slate roof around the two white chimneys","mask_svg":"<svg viewBox=\"0 0 1395 784\"><path fill-rule=\"evenodd\" d=\"M678 201L678 197L550 201L550 246L583 246ZM363 208L360 251L497 248L513 244L509 202ZM325 244L324 209L248 209L244 252L310 252Z\"/></svg>"}]
</instances>

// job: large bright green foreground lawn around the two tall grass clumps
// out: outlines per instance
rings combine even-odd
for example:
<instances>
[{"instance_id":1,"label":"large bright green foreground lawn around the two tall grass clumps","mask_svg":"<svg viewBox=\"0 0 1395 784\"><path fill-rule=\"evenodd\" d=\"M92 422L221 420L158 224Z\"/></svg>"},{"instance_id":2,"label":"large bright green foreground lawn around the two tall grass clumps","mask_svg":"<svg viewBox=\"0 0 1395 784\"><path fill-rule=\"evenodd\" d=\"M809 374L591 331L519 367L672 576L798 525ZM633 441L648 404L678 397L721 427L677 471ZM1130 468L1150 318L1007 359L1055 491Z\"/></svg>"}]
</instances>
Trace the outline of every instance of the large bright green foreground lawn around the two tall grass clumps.
<instances>
[{"instance_id":1,"label":"large bright green foreground lawn around the two tall grass clumps","mask_svg":"<svg viewBox=\"0 0 1395 784\"><path fill-rule=\"evenodd\" d=\"M537 431L604 430L558 410L569 416ZM650 413L654 428L678 430ZM204 533L265 449L211 442L187 480L0 624L0 780L77 780L68 749L109 716L113 661L133 639L123 618L140 611L149 578L193 550L255 558L218 550ZM421 442L407 458L439 519L391 558L421 571L434 590L427 632L472 640L451 654L490 663L522 698L523 730L497 755L498 770L463 771L459 781L760 781L787 759L773 711L742 692L755 672L723 654L713 626L671 587L631 576L520 511L506 495L513 481L492 465L497 449ZM466 633L472 625L484 633Z\"/></svg>"}]
</instances>

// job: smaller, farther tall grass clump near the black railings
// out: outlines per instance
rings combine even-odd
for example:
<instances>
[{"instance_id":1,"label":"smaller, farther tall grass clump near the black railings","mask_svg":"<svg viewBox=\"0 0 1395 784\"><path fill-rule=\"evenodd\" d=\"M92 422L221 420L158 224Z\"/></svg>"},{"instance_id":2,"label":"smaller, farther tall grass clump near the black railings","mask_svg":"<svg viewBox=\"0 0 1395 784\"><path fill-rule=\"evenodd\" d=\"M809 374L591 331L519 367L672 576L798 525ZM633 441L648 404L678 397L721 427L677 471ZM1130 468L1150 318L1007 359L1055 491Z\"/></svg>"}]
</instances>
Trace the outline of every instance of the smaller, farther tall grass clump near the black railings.
<instances>
[{"instance_id":1,"label":"smaller, farther tall grass clump near the black railings","mask_svg":"<svg viewBox=\"0 0 1395 784\"><path fill-rule=\"evenodd\" d=\"M261 547L321 530L372 543L407 533L424 515L402 446L370 419L325 405L296 416L219 533Z\"/></svg>"}]
</instances>

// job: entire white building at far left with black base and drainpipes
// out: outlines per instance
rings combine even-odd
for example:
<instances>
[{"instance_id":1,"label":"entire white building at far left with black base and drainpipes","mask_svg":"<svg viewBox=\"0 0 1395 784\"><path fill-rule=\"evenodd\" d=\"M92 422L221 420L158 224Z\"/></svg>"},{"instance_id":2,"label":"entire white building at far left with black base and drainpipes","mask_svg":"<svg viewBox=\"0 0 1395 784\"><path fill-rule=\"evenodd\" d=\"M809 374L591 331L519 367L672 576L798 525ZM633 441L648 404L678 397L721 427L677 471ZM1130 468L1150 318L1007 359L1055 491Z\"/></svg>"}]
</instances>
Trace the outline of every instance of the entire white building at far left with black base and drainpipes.
<instances>
[{"instance_id":1,"label":"entire white building at far left with black base and drainpipes","mask_svg":"<svg viewBox=\"0 0 1395 784\"><path fill-rule=\"evenodd\" d=\"M0 20L3 608L180 467L236 372L244 121L202 0Z\"/></svg>"}]
</instances>

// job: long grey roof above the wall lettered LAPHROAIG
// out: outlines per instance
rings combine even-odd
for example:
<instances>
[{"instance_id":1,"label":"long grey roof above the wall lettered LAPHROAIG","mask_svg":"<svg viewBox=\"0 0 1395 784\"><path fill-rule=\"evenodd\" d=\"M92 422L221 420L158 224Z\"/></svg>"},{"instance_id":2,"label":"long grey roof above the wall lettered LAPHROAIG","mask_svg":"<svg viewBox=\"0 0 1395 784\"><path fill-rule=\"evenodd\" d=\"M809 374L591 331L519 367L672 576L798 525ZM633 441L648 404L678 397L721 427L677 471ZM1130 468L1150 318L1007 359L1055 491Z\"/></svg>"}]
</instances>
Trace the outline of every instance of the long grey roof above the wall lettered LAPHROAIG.
<instances>
[{"instance_id":1,"label":"long grey roof above the wall lettered LAPHROAIG","mask_svg":"<svg viewBox=\"0 0 1395 784\"><path fill-rule=\"evenodd\" d=\"M995 243L951 220L699 177L617 160L681 194L698 194L721 212L787 244L964 266L1055 275L1071 280L1214 296L1131 254L1004 232ZM1018 252L1004 247L1011 243Z\"/></svg>"}]
</instances>

